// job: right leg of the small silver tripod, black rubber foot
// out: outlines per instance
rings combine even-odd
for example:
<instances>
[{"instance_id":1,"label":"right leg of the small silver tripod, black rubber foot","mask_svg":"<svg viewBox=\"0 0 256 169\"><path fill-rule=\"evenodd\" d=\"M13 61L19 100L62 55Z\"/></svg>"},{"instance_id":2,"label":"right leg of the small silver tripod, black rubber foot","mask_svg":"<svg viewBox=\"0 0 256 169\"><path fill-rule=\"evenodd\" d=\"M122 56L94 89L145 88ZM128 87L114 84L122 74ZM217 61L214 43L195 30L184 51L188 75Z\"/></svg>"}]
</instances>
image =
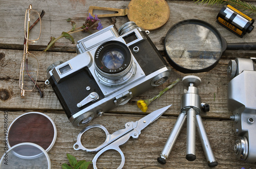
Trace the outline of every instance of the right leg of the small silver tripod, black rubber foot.
<instances>
[{"instance_id":1,"label":"right leg of the small silver tripod, black rubber foot","mask_svg":"<svg viewBox=\"0 0 256 169\"><path fill-rule=\"evenodd\" d=\"M217 166L218 162L215 160L214 153L212 152L212 149L210 147L210 142L208 140L204 124L200 115L196 116L196 125L209 167Z\"/></svg>"}]
</instances>

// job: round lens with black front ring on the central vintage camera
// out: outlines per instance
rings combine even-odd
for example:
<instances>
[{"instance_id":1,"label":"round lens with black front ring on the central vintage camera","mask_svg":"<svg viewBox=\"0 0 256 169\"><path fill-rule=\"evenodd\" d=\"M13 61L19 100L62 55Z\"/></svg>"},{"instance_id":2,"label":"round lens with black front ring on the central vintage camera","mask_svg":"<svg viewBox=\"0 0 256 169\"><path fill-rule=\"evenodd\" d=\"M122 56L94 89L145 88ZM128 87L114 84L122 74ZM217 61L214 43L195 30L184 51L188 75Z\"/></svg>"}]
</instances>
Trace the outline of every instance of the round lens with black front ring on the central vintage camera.
<instances>
[{"instance_id":1,"label":"round lens with black front ring on the central vintage camera","mask_svg":"<svg viewBox=\"0 0 256 169\"><path fill-rule=\"evenodd\" d=\"M95 73L100 83L118 86L128 81L136 72L130 49L122 42L108 41L96 50Z\"/></svg>"}]
</instances>

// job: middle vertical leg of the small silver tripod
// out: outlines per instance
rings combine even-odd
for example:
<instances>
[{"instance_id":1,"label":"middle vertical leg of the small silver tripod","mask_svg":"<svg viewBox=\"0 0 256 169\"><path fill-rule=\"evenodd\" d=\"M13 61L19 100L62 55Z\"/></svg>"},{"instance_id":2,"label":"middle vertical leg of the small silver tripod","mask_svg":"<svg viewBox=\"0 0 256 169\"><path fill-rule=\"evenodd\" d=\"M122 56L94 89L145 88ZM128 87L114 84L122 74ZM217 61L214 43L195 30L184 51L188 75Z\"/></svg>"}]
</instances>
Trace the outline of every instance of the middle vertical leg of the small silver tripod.
<instances>
[{"instance_id":1,"label":"middle vertical leg of the small silver tripod","mask_svg":"<svg viewBox=\"0 0 256 169\"><path fill-rule=\"evenodd\" d=\"M188 161L196 159L196 110L187 111L187 154Z\"/></svg>"}]
</instances>

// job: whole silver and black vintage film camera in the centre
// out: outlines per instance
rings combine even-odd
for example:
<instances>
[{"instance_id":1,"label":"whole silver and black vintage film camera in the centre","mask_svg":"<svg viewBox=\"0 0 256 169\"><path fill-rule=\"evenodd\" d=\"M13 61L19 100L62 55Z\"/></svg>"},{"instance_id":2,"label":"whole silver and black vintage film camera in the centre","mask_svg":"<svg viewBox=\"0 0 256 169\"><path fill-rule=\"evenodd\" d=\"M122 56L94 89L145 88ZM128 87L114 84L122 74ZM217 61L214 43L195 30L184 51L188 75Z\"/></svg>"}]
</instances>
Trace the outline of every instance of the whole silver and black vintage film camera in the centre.
<instances>
[{"instance_id":1,"label":"whole silver and black vintage film camera in the centre","mask_svg":"<svg viewBox=\"0 0 256 169\"><path fill-rule=\"evenodd\" d=\"M134 22L113 25L79 40L77 56L48 68L51 84L74 126L89 123L148 89L161 85L171 69Z\"/></svg>"}]
</instances>

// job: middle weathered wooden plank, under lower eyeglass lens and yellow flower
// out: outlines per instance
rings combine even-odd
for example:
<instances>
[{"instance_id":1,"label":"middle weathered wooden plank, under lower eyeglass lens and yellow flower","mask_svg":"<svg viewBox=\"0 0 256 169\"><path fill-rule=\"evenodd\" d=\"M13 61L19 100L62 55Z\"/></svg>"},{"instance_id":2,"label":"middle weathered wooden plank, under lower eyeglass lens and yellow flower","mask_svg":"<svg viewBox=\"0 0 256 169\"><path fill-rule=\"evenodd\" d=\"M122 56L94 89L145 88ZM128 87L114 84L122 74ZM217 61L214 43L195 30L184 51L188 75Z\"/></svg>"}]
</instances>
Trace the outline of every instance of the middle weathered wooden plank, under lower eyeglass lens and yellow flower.
<instances>
[{"instance_id":1,"label":"middle weathered wooden plank, under lower eyeglass lens and yellow flower","mask_svg":"<svg viewBox=\"0 0 256 169\"><path fill-rule=\"evenodd\" d=\"M33 53L38 58L39 66L39 77L38 85L44 92L44 97L40 98L39 93L34 90L33 92L28 92L25 99L20 98L18 79L19 79L19 65L20 57L23 51L21 50L10 50L10 49L0 49L0 53L4 53L5 57L2 59L0 67L0 75L2 78L2 83L0 83L0 89L7 90L10 96L6 99L0 99L1 108L4 109L35 109L35 110L59 110L62 111L62 107L57 100L52 87L50 85L45 85L46 69L47 67L56 61L67 61L75 57L75 53L65 53L65 52L38 52L33 51ZM231 112L227 109L227 84L228 79L226 75L228 60L221 60L218 66L207 72L196 74L202 79L202 83L199 86L200 96L202 101L207 101L210 105L210 112L202 114L202 116L211 118L228 119ZM210 76L209 76L210 74ZM167 82L159 87L155 87L148 92L141 94L138 97L132 98L129 103L123 106L119 106L110 112L116 113L129 113L137 114L139 108L136 105L137 100L152 98L157 95L160 91L166 88L169 83L175 81L177 78L180 79L179 83L171 90L167 91L159 100L156 100L148 106L147 112L152 112L157 108L166 106L168 104L173 104L173 107L166 112L167 115L178 116L180 113L180 102L181 95L183 94L182 78L185 74L173 70L173 74L170 76Z\"/></svg>"}]
</instances>

